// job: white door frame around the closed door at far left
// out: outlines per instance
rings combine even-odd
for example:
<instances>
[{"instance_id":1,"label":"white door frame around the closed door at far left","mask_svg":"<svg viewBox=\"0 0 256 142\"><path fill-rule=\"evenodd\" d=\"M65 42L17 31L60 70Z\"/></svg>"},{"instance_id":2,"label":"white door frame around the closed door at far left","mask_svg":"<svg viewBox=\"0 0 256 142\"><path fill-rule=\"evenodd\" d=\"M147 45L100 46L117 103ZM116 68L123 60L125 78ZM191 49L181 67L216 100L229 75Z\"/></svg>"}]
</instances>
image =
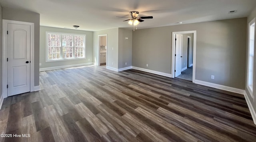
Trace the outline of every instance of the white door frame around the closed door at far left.
<instances>
[{"instance_id":1,"label":"white door frame around the closed door at far left","mask_svg":"<svg viewBox=\"0 0 256 142\"><path fill-rule=\"evenodd\" d=\"M22 25L29 25L30 26L30 92L34 90L34 23L30 22L21 22L21 21L13 21L13 20L4 20L3 19L3 53L2 53L2 95L4 98L7 98L7 56L8 56L8 49L7 49L7 30L8 24L22 24Z\"/></svg>"}]
</instances>

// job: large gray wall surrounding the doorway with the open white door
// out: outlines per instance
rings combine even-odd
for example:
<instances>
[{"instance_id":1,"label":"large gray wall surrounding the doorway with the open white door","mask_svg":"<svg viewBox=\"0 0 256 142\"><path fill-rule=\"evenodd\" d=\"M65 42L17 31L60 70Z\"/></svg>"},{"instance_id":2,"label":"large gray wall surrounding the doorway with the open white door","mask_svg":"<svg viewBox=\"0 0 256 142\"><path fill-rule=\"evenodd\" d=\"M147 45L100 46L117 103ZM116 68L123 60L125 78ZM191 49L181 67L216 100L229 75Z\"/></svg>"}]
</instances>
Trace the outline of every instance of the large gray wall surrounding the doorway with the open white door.
<instances>
[{"instance_id":1,"label":"large gray wall surrounding the doorway with the open white door","mask_svg":"<svg viewBox=\"0 0 256 142\"><path fill-rule=\"evenodd\" d=\"M172 32L196 30L196 80L244 89L246 24L238 18L135 30L132 66L171 74Z\"/></svg>"}]
</instances>

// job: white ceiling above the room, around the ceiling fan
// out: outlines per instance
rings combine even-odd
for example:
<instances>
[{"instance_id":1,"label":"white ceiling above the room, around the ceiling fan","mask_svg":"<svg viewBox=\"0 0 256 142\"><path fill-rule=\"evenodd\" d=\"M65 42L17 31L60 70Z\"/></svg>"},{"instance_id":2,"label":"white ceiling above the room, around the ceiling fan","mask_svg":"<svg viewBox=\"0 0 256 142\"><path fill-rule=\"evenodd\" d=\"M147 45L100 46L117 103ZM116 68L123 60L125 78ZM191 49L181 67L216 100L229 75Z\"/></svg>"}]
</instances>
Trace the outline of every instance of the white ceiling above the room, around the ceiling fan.
<instances>
[{"instance_id":1,"label":"white ceiling above the room, around the ceiling fan","mask_svg":"<svg viewBox=\"0 0 256 142\"><path fill-rule=\"evenodd\" d=\"M242 18L255 8L256 0L0 0L2 7L40 14L40 25L97 31L133 27L126 18L130 11L153 16L138 24L138 29L159 26ZM237 10L234 14L228 14Z\"/></svg>"}]
</instances>

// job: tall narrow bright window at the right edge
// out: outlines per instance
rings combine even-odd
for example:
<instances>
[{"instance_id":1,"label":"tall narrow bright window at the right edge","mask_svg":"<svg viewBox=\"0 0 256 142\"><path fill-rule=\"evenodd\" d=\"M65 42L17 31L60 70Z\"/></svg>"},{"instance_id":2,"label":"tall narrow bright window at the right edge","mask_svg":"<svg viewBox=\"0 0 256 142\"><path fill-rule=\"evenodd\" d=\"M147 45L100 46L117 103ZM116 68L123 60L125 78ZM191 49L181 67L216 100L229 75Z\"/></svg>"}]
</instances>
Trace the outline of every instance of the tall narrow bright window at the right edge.
<instances>
[{"instance_id":1,"label":"tall narrow bright window at the right edge","mask_svg":"<svg viewBox=\"0 0 256 142\"><path fill-rule=\"evenodd\" d=\"M247 88L252 95L253 74L254 74L254 38L255 37L255 19L249 23L249 41L248 41L248 69L247 69Z\"/></svg>"}]
</instances>

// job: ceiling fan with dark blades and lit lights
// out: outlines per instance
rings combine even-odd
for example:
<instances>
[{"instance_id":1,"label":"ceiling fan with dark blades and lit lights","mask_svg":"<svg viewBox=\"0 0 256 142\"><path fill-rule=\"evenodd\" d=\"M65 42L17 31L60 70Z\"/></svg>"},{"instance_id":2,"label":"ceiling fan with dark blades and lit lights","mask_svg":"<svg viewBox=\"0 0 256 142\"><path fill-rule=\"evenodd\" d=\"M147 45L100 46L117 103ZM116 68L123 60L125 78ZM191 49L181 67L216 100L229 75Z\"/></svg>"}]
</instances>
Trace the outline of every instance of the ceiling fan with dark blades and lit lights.
<instances>
[{"instance_id":1,"label":"ceiling fan with dark blades and lit lights","mask_svg":"<svg viewBox=\"0 0 256 142\"><path fill-rule=\"evenodd\" d=\"M128 18L128 20L129 20L128 24L130 24L130 25L133 24L134 26L137 26L139 24L139 22L143 22L144 20L142 20L142 19L152 19L153 18L153 16L138 17L138 14L139 14L138 11L131 11L130 12L131 17L120 17L120 16L116 16L116 17ZM128 21L128 20L124 20L124 21Z\"/></svg>"}]
</instances>

